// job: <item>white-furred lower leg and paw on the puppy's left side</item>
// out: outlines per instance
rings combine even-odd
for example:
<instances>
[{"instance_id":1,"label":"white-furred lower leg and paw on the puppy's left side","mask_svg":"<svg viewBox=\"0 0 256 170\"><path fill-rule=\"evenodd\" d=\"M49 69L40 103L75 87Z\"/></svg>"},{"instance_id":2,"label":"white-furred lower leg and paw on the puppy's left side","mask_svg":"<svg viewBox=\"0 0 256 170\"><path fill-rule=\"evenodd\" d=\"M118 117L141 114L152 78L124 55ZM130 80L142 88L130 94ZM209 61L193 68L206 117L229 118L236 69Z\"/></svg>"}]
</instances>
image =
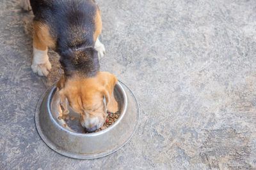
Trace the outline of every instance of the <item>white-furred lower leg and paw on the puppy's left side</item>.
<instances>
[{"instance_id":1,"label":"white-furred lower leg and paw on the puppy's left side","mask_svg":"<svg viewBox=\"0 0 256 170\"><path fill-rule=\"evenodd\" d=\"M47 76L49 71L51 71L51 63L49 62L49 57L46 50L37 50L33 48L33 61L31 69L34 73L37 73L39 76Z\"/></svg>"}]
</instances>

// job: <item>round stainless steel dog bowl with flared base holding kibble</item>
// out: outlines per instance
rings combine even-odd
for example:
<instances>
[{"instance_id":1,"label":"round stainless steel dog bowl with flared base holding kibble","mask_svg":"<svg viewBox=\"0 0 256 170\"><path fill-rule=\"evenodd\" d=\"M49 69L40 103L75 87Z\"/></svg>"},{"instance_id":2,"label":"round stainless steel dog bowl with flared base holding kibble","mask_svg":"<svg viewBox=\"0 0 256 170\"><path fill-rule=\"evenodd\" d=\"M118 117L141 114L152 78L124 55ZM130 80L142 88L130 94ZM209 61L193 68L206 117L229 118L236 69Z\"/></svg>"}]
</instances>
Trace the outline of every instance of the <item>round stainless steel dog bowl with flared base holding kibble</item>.
<instances>
[{"instance_id":1,"label":"round stainless steel dog bowl with flared base holding kibble","mask_svg":"<svg viewBox=\"0 0 256 170\"><path fill-rule=\"evenodd\" d=\"M59 120L58 90L49 87L36 107L35 124L38 133L52 150L76 159L95 159L115 152L125 145L136 130L139 120L138 104L131 90L118 81L114 95L121 115L114 124L99 132L84 134L79 114L70 110L74 120ZM66 124L67 127L63 127Z\"/></svg>"}]
</instances>

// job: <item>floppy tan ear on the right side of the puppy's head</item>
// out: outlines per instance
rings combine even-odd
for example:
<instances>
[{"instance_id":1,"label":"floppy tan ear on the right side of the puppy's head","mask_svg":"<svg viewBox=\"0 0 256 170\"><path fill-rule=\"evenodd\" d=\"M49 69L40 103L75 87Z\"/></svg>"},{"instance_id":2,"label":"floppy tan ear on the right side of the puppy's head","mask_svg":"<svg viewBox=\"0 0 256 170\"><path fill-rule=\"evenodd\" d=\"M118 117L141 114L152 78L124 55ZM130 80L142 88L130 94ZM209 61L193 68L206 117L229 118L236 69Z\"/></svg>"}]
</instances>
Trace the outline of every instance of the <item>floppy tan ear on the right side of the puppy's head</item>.
<instances>
[{"instance_id":1,"label":"floppy tan ear on the right side of the puppy's head","mask_svg":"<svg viewBox=\"0 0 256 170\"><path fill-rule=\"evenodd\" d=\"M102 87L102 95L106 98L106 108L111 113L118 111L118 104L114 96L114 87L117 83L117 78L113 74L102 72L103 80L105 80L104 86Z\"/></svg>"}]
</instances>

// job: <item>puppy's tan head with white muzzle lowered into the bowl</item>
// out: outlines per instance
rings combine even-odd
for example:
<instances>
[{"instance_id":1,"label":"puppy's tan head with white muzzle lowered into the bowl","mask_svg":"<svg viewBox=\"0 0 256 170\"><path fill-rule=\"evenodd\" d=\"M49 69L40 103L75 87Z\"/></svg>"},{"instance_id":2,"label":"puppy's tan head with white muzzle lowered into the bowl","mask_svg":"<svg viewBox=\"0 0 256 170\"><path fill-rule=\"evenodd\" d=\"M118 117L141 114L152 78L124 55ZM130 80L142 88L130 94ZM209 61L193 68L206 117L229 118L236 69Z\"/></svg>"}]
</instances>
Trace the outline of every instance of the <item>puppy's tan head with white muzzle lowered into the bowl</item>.
<instances>
[{"instance_id":1,"label":"puppy's tan head with white muzzle lowered into the bowl","mask_svg":"<svg viewBox=\"0 0 256 170\"><path fill-rule=\"evenodd\" d=\"M118 111L113 91L117 78L108 72L99 72L89 78L65 78L63 75L56 87L60 90L63 114L68 106L81 114L81 124L86 131L99 129L106 121L106 111ZM106 101L104 101L104 98Z\"/></svg>"}]
</instances>

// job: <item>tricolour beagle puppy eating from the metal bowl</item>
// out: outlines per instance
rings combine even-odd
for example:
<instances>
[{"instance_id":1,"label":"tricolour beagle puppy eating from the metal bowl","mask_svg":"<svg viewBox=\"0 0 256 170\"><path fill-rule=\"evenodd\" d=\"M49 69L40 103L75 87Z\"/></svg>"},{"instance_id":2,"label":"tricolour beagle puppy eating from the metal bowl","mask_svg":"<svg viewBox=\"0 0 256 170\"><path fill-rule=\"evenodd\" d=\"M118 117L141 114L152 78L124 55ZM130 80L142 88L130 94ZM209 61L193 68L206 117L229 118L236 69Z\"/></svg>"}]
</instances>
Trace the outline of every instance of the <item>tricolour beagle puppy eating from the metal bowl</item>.
<instances>
[{"instance_id":1,"label":"tricolour beagle puppy eating from the metal bowl","mask_svg":"<svg viewBox=\"0 0 256 170\"><path fill-rule=\"evenodd\" d=\"M99 57L105 52L98 37L102 21L93 0L21 0L24 10L33 10L33 62L31 68L47 76L51 63L47 46L60 55L64 74L56 84L60 106L81 114L86 131L99 129L107 110L118 111L113 91L116 76L100 71ZM104 98L106 103L104 103Z\"/></svg>"}]
</instances>

